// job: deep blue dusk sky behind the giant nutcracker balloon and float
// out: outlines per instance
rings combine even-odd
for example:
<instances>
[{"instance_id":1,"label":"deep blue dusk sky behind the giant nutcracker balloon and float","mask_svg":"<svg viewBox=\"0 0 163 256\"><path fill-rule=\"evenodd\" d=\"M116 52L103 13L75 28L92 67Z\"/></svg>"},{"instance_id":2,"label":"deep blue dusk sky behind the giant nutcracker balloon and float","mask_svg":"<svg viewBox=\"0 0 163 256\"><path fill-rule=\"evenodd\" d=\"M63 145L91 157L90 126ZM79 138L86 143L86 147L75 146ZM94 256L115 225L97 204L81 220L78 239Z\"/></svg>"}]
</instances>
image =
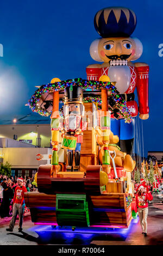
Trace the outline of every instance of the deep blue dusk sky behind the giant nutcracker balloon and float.
<instances>
[{"instance_id":1,"label":"deep blue dusk sky behind the giant nutcracker balloon and float","mask_svg":"<svg viewBox=\"0 0 163 256\"><path fill-rule=\"evenodd\" d=\"M132 36L143 44L137 61L150 67L149 119L142 122L145 156L147 151L163 151L163 57L158 54L159 44L163 44L163 2L158 0L1 1L0 124L31 112L24 105L35 86L49 83L53 77L86 78L86 66L95 63L89 47L99 38L93 18L98 10L110 6L130 8L137 16Z\"/></svg>"}]
</instances>

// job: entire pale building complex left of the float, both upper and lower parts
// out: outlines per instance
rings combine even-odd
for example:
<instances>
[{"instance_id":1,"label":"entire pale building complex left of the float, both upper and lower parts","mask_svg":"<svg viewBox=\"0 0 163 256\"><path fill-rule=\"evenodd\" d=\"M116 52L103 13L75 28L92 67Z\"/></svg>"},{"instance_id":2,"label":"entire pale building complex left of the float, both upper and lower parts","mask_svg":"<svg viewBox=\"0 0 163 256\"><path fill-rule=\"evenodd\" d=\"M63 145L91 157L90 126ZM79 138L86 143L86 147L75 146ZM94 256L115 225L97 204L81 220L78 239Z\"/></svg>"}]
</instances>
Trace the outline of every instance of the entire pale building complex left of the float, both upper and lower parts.
<instances>
[{"instance_id":1,"label":"entire pale building complex left of the float, both upper and lower parts","mask_svg":"<svg viewBox=\"0 0 163 256\"><path fill-rule=\"evenodd\" d=\"M40 164L51 163L47 157L44 160L36 160L37 154L45 156L52 154L51 118L31 113L10 118L10 120L9 118L1 119L0 164L10 163L12 176L32 177ZM65 159L66 151L59 147L59 161L64 162Z\"/></svg>"}]
</instances>

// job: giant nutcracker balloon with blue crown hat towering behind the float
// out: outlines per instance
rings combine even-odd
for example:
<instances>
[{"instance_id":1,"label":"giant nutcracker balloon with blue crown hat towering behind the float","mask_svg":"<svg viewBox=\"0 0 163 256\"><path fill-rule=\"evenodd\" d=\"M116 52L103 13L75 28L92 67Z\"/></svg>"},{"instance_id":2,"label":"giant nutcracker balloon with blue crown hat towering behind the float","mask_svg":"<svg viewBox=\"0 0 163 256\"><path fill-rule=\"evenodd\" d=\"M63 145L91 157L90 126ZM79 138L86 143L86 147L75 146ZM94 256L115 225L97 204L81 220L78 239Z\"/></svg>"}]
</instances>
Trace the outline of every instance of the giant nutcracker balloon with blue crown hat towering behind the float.
<instances>
[{"instance_id":1,"label":"giant nutcracker balloon with blue crown hat towering behind the float","mask_svg":"<svg viewBox=\"0 0 163 256\"><path fill-rule=\"evenodd\" d=\"M95 29L102 38L90 46L91 57L102 64L87 66L87 80L98 81L106 75L116 82L120 96L127 101L132 115L130 124L114 110L111 114L111 131L120 138L120 148L127 154L132 153L134 141L134 118L139 112L140 119L148 119L148 72L146 63L133 63L140 58L143 47L139 39L130 35L136 27L136 15L127 8L105 8L97 12L94 19ZM139 108L134 100L137 88ZM109 105L112 105L111 98ZM112 105L112 109L114 106ZM117 120L118 119L118 120Z\"/></svg>"}]
</instances>

